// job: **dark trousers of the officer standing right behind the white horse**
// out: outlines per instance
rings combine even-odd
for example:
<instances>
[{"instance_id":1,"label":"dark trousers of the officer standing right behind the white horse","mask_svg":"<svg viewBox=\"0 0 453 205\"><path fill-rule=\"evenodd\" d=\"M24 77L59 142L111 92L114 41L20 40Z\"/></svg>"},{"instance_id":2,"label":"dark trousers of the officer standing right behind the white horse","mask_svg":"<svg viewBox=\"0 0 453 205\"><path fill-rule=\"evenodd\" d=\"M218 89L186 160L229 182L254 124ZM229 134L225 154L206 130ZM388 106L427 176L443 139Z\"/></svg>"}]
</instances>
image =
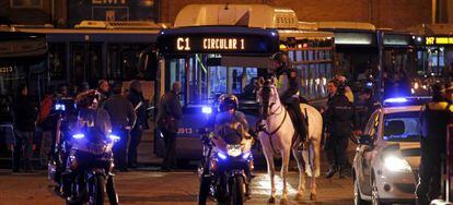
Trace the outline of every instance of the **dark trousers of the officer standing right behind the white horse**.
<instances>
[{"instance_id":1,"label":"dark trousers of the officer standing right behind the white horse","mask_svg":"<svg viewBox=\"0 0 453 205\"><path fill-rule=\"evenodd\" d=\"M348 141L347 136L329 135L326 141L327 161L330 168L345 169L348 164Z\"/></svg>"}]
</instances>

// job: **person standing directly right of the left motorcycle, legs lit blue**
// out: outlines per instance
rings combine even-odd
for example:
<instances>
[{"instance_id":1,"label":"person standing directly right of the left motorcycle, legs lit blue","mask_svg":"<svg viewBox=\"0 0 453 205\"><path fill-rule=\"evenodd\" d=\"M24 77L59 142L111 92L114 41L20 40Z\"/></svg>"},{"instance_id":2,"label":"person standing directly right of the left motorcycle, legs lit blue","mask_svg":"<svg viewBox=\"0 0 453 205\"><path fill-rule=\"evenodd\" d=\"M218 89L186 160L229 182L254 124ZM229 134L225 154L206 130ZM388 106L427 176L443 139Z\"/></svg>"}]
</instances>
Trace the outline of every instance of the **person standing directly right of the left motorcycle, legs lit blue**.
<instances>
[{"instance_id":1,"label":"person standing directly right of the left motorcycle, legs lit blue","mask_svg":"<svg viewBox=\"0 0 453 205\"><path fill-rule=\"evenodd\" d=\"M113 148L115 165L118 170L127 171L129 132L136 122L136 112L129 99L121 95L121 85L114 85L113 96L104 101L103 108L111 117L112 132L120 137Z\"/></svg>"}]
</instances>

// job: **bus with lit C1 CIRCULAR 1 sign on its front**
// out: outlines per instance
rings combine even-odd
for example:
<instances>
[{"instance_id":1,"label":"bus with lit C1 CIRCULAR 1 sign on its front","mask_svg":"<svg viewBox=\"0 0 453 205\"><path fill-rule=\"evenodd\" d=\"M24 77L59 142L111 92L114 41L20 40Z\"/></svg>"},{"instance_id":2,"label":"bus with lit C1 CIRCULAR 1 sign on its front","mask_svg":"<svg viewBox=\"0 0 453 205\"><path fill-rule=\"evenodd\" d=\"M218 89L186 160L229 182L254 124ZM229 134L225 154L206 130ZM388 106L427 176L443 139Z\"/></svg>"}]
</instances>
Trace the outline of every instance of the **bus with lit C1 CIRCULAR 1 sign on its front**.
<instances>
[{"instance_id":1,"label":"bus with lit C1 CIRCULAR 1 sign on its front","mask_svg":"<svg viewBox=\"0 0 453 205\"><path fill-rule=\"evenodd\" d=\"M208 12L209 11L209 12ZM334 35L307 29L294 11L264 4L193 4L179 11L175 24L158 36L155 96L182 83L184 114L177 133L177 158L200 159L204 128L217 109L219 94L234 94L253 126L257 121L254 82L272 67L270 57L288 52L301 77L300 94L310 101L325 99L334 75ZM159 105L160 97L155 98ZM155 130L154 152L164 155Z\"/></svg>"}]
</instances>

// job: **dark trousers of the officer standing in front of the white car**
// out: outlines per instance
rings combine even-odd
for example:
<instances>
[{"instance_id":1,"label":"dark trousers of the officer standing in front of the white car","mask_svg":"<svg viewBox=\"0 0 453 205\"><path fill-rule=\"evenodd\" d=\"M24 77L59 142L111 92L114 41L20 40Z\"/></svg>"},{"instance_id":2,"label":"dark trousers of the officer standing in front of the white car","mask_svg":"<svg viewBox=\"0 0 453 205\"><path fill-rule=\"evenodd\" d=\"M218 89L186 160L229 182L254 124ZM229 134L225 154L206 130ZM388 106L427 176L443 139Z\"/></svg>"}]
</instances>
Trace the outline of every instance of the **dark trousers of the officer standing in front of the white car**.
<instances>
[{"instance_id":1,"label":"dark trousers of the officer standing in front of the white car","mask_svg":"<svg viewBox=\"0 0 453 205\"><path fill-rule=\"evenodd\" d=\"M435 150L421 150L417 204L429 204L441 194L441 155Z\"/></svg>"}]
</instances>

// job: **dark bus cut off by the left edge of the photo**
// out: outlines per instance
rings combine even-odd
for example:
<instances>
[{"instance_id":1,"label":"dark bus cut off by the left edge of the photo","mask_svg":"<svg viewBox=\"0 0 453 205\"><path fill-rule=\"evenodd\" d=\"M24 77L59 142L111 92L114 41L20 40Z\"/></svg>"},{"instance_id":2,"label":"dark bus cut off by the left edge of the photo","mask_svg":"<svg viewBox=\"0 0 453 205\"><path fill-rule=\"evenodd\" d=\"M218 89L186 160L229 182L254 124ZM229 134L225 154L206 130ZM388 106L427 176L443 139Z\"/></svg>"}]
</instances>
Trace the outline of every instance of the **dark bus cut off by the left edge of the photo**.
<instances>
[{"instance_id":1,"label":"dark bus cut off by the left edge of the photo","mask_svg":"<svg viewBox=\"0 0 453 205\"><path fill-rule=\"evenodd\" d=\"M44 95L46 62L46 36L0 26L0 164L10 161L7 150L13 144L12 102L18 87L27 85L30 100L37 106Z\"/></svg>"}]
</instances>

